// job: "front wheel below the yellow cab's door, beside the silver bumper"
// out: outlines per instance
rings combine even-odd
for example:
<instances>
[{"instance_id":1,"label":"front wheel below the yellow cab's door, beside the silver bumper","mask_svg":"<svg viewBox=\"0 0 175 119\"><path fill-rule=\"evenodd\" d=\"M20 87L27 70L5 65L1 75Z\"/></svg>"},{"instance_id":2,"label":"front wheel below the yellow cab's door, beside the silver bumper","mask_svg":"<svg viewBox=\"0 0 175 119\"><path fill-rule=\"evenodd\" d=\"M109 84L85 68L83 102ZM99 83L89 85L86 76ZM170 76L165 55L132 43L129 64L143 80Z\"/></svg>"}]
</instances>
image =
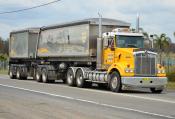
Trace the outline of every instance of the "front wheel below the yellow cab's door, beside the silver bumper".
<instances>
[{"instance_id":1,"label":"front wheel below the yellow cab's door, beside the silver bumper","mask_svg":"<svg viewBox=\"0 0 175 119\"><path fill-rule=\"evenodd\" d=\"M121 78L118 72L113 72L110 76L109 87L113 92L121 91Z\"/></svg>"}]
</instances>

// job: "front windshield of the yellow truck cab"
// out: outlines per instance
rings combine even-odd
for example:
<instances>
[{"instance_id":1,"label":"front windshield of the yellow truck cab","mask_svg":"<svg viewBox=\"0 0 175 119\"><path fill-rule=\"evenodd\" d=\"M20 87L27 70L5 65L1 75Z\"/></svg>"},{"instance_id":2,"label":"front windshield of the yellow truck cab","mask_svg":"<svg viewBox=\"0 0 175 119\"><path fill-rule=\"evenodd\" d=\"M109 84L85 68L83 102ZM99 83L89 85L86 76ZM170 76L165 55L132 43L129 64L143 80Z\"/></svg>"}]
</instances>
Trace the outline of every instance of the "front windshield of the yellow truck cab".
<instances>
[{"instance_id":1,"label":"front windshield of the yellow truck cab","mask_svg":"<svg viewBox=\"0 0 175 119\"><path fill-rule=\"evenodd\" d=\"M143 48L142 36L117 36L117 47L120 48Z\"/></svg>"}]
</instances>

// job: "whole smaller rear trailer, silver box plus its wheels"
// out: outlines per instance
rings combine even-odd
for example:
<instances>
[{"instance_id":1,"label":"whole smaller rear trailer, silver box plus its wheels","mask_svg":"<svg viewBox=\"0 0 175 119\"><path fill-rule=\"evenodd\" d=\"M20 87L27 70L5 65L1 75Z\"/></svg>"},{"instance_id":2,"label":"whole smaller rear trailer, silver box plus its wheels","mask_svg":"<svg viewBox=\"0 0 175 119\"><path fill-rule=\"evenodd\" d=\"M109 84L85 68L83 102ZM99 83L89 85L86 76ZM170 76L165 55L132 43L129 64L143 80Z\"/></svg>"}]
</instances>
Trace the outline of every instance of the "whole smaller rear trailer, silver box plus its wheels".
<instances>
[{"instance_id":1,"label":"whole smaller rear trailer, silver box plus its wheels","mask_svg":"<svg viewBox=\"0 0 175 119\"><path fill-rule=\"evenodd\" d=\"M9 40L9 75L26 79L33 76L39 28L13 31Z\"/></svg>"}]
</instances>

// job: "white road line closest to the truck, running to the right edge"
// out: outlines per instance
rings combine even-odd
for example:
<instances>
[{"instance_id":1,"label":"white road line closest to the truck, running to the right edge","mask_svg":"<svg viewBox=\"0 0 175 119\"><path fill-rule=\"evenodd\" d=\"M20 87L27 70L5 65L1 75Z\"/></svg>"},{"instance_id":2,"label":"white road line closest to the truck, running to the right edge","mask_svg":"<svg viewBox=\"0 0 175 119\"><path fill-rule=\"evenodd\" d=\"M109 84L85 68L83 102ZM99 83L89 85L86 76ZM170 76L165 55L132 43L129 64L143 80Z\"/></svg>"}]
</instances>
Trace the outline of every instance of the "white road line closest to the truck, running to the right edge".
<instances>
[{"instance_id":1,"label":"white road line closest to the truck, running to the right edge","mask_svg":"<svg viewBox=\"0 0 175 119\"><path fill-rule=\"evenodd\" d=\"M7 78L5 78L5 79L7 79ZM62 87L71 88L71 89L74 88L74 87L68 87L68 86L62 86ZM99 91L99 90L92 90L92 89L83 89L82 90L82 89L76 88L76 90L81 90L81 91L86 90L86 91L98 92L98 93L103 93L103 94L112 94L112 95L119 95L119 96L125 96L125 97L130 97L130 98L138 98L138 99L144 99L144 100L150 100L150 101L158 101L158 102L175 104L175 101L173 101L173 100L151 98L151 97L146 97L146 96L136 96L136 95L131 95L131 94L113 93L113 92L106 92L106 91Z\"/></svg>"}]
</instances>

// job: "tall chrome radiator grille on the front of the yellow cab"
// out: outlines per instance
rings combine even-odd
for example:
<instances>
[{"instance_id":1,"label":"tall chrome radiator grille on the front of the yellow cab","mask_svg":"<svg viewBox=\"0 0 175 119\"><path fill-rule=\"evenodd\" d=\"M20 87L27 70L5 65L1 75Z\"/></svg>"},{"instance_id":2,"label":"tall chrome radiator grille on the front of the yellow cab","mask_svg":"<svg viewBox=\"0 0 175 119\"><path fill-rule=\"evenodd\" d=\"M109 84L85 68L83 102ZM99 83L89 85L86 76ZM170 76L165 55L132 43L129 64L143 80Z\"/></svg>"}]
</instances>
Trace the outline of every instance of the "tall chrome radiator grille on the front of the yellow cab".
<instances>
[{"instance_id":1,"label":"tall chrome radiator grille on the front of the yellow cab","mask_svg":"<svg viewBox=\"0 0 175 119\"><path fill-rule=\"evenodd\" d=\"M155 76L156 55L148 52L136 53L135 74L137 76Z\"/></svg>"}]
</instances>

